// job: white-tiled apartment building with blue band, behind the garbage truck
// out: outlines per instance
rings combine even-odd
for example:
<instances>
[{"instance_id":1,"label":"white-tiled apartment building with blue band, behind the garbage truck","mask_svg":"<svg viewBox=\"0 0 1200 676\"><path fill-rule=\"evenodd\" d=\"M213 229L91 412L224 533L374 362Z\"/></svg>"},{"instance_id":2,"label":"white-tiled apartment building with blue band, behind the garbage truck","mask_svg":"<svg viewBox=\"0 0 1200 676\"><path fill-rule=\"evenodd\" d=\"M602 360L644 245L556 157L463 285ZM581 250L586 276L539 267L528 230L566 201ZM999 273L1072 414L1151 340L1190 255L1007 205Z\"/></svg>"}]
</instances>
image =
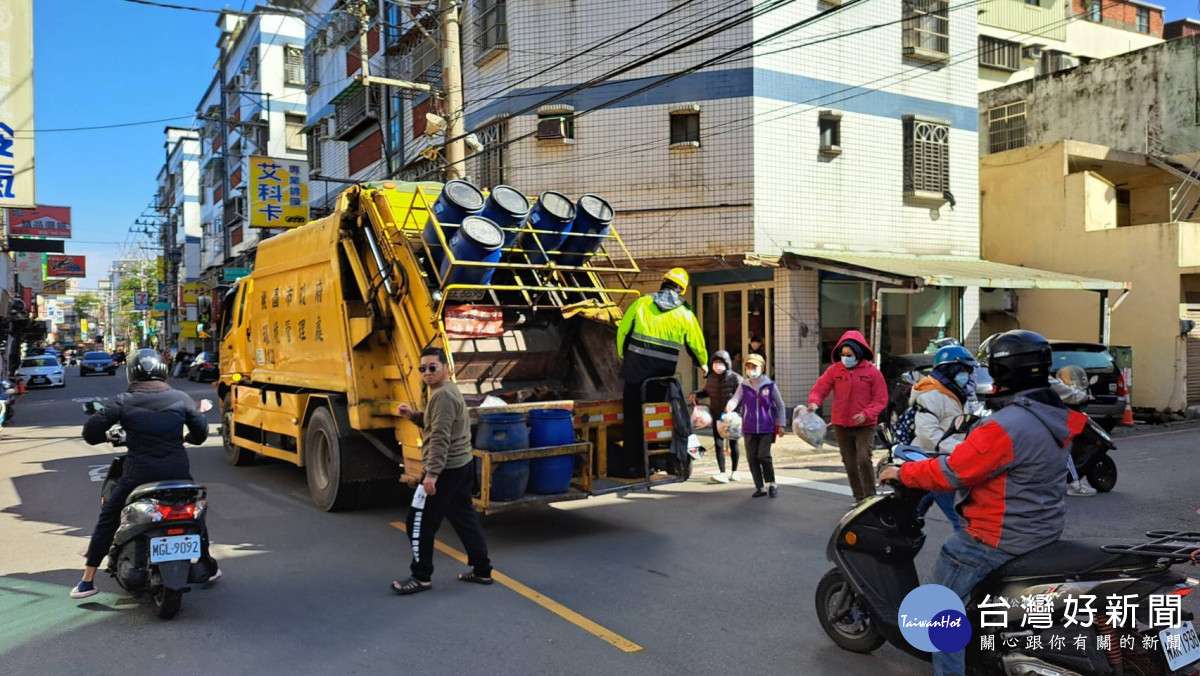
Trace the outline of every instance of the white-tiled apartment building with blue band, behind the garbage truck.
<instances>
[{"instance_id":1,"label":"white-tiled apartment building with blue band, behind the garbage truck","mask_svg":"<svg viewBox=\"0 0 1200 676\"><path fill-rule=\"evenodd\" d=\"M788 401L845 330L886 355L972 345L979 287L1090 283L979 258L978 66L953 58L976 49L976 13L836 5L467 4L461 171L607 199L642 286L686 267L710 348L740 359L761 339ZM449 114L443 98L361 86L361 26L341 2L306 8L324 17L306 49L311 163L439 180L426 114ZM370 71L440 89L432 7L374 8Z\"/></svg>"}]
</instances>

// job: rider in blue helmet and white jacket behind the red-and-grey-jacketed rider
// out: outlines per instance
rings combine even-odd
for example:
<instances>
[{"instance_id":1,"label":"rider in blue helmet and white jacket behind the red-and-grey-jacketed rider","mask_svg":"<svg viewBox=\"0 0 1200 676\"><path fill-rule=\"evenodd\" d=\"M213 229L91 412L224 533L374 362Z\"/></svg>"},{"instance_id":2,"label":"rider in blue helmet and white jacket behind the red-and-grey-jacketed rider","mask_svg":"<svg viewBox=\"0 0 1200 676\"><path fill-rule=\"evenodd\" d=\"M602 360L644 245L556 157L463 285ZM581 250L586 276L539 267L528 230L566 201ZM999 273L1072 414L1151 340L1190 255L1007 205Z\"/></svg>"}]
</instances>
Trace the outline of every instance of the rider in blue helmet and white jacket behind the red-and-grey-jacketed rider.
<instances>
[{"instance_id":1,"label":"rider in blue helmet and white jacket behind the red-and-grey-jacketed rider","mask_svg":"<svg viewBox=\"0 0 1200 676\"><path fill-rule=\"evenodd\" d=\"M916 407L913 445L930 455L949 455L966 437L954 430L954 421L962 415L970 396L971 375L976 360L959 345L943 347L934 357L934 369L912 388L908 406ZM917 508L922 516L932 503L946 514L950 526L960 527L954 512L954 492L929 492Z\"/></svg>"}]
</instances>

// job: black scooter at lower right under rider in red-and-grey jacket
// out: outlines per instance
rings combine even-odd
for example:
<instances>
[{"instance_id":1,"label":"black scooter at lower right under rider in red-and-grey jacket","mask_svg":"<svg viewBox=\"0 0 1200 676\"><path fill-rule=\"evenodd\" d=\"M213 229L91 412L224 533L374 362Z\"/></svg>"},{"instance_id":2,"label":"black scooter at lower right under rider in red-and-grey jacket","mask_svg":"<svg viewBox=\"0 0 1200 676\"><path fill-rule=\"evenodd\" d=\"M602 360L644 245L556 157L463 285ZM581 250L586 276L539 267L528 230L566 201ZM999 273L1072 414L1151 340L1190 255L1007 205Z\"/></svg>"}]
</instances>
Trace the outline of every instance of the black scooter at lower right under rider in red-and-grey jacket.
<instances>
[{"instance_id":1,"label":"black scooter at lower right under rider in red-and-grey jacket","mask_svg":"<svg viewBox=\"0 0 1200 676\"><path fill-rule=\"evenodd\" d=\"M926 457L917 447L898 445L880 468ZM870 653L889 642L928 660L930 653L905 640L899 617L905 597L919 584L913 561L925 544L925 533L924 519L917 515L917 503L925 491L895 483L889 485L890 492L859 502L834 530L827 549L834 568L817 584L817 618L829 638L844 650ZM1193 674L1192 670L1200 665L1200 638L1192 614L1181 611L1177 628L1159 630L1151 624L1147 599L1152 596L1183 597L1200 584L1172 570L1174 564L1189 561L1192 552L1200 549L1200 532L1151 532L1147 537L1148 542L1133 546L1098 548L1058 540L994 572L974 588L966 604L966 616L973 628L972 640L965 648L967 672L995 676ZM996 599L1016 602L1038 594L1050 594L1055 602L1046 629L1025 626L1027 616L1019 604L998 611L1006 618L1002 627L982 621L985 609L996 608ZM1109 622L1105 599L1110 594L1130 594L1136 599L1132 623L1114 627ZM1097 621L1088 627L1067 626L1069 605L1064 599L1072 597L1096 597ZM990 617L994 620L995 615ZM1099 650L1097 638L1100 635L1106 635L1112 647ZM1066 639L1060 644L1052 640L1054 636ZM1082 636L1084 650L1078 647L1076 636ZM1162 647L1146 648L1145 638L1157 639ZM988 650L983 650L984 645ZM1126 645L1133 647L1126 648Z\"/></svg>"}]
</instances>

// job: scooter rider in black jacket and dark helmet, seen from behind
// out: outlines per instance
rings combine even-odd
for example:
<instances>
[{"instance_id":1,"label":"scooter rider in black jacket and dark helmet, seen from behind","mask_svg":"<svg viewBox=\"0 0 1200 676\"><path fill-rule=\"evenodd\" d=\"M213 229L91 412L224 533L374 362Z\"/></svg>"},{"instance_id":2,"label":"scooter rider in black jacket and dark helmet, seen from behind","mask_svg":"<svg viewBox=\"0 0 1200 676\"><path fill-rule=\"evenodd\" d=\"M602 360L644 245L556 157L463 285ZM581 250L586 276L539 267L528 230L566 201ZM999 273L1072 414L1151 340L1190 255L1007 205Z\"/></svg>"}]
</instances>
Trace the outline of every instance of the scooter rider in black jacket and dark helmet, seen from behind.
<instances>
[{"instance_id":1,"label":"scooter rider in black jacket and dark helmet, seen from behind","mask_svg":"<svg viewBox=\"0 0 1200 676\"><path fill-rule=\"evenodd\" d=\"M128 389L84 423L83 438L91 445L109 441L113 425L127 435L128 453L121 477L108 501L101 501L100 519L88 544L88 562L83 580L71 590L71 598L82 599L98 592L94 580L120 526L121 509L133 489L151 481L191 480L184 443L202 444L209 436L209 423L192 397L166 383L167 365L154 349L139 349L128 360ZM187 427L187 435L182 429ZM203 582L215 582L221 569L209 556L209 538L200 538L200 560L212 573Z\"/></svg>"}]
</instances>

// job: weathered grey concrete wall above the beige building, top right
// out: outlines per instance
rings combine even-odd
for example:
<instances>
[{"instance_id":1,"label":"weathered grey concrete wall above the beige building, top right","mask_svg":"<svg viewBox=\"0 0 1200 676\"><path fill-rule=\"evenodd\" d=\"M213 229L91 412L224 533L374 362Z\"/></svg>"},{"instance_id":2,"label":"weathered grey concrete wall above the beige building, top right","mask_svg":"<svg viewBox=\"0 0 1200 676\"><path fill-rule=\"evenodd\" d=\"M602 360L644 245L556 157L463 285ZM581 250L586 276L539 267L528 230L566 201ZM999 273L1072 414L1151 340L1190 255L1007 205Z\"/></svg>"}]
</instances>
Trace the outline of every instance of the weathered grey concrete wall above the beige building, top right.
<instances>
[{"instance_id":1,"label":"weathered grey concrete wall above the beige building, top right","mask_svg":"<svg viewBox=\"0 0 1200 676\"><path fill-rule=\"evenodd\" d=\"M1094 61L979 95L979 109L1027 101L1027 145L1063 139L1146 151L1146 130L1162 127L1178 137L1182 152L1200 145L1200 37Z\"/></svg>"}]
</instances>

